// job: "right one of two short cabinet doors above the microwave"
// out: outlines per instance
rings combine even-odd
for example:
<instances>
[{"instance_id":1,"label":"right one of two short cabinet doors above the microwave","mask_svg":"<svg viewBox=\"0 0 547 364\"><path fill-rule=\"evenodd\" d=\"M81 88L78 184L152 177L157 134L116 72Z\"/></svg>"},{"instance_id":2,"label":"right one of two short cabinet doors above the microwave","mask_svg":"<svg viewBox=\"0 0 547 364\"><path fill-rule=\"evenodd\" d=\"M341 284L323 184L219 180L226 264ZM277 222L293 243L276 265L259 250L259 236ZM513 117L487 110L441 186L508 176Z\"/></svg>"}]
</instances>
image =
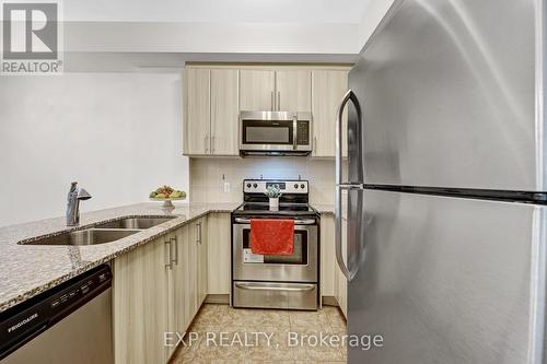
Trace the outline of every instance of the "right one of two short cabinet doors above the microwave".
<instances>
[{"instance_id":1,"label":"right one of two short cabinet doors above the microwave","mask_svg":"<svg viewBox=\"0 0 547 364\"><path fill-rule=\"evenodd\" d=\"M276 106L280 111L312 110L312 72L276 71Z\"/></svg>"}]
</instances>

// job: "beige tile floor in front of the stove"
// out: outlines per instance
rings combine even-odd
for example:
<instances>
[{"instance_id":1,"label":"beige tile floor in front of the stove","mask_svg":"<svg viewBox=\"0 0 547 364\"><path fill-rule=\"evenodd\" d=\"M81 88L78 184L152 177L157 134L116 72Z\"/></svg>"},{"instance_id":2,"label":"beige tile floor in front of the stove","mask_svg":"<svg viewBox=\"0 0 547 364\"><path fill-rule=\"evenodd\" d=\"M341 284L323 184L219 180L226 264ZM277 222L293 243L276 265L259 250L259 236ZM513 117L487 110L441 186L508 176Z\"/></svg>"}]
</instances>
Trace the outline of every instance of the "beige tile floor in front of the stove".
<instances>
[{"instance_id":1,"label":"beige tile floor in front of the stove","mask_svg":"<svg viewBox=\"0 0 547 364\"><path fill-rule=\"evenodd\" d=\"M186 345L179 345L172 363L347 362L346 347L336 339L328 341L346 334L346 320L337 307L294 312L207 304L188 332ZM327 344L317 343L321 333Z\"/></svg>"}]
</instances>

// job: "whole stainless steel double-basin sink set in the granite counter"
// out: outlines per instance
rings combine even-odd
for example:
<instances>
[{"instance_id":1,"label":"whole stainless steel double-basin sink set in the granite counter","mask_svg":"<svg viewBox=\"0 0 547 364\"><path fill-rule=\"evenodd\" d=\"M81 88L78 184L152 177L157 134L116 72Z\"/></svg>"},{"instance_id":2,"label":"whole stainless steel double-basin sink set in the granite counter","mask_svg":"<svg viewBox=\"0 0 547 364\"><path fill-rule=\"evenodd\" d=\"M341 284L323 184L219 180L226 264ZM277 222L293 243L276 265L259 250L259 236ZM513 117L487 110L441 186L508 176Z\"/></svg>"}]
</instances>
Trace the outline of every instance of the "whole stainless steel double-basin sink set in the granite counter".
<instances>
[{"instance_id":1,"label":"whole stainless steel double-basin sink set in the granite counter","mask_svg":"<svg viewBox=\"0 0 547 364\"><path fill-rule=\"evenodd\" d=\"M163 224L176 216L121 218L97 223L92 227L65 232L59 235L23 240L23 245L97 245L119 240L143 230Z\"/></svg>"}]
</instances>

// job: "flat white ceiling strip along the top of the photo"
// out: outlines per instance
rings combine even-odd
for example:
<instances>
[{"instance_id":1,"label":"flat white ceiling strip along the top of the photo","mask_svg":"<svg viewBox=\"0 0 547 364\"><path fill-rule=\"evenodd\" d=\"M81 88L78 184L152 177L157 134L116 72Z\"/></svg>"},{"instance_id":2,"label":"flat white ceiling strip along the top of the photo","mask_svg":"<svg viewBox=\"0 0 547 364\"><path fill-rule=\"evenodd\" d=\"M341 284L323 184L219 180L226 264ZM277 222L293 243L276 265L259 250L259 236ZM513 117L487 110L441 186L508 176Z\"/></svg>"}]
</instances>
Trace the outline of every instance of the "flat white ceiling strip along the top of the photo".
<instances>
[{"instance_id":1,"label":"flat white ceiling strip along the top of the photo","mask_svg":"<svg viewBox=\"0 0 547 364\"><path fill-rule=\"evenodd\" d=\"M66 21L359 23L370 0L70 0Z\"/></svg>"}]
</instances>

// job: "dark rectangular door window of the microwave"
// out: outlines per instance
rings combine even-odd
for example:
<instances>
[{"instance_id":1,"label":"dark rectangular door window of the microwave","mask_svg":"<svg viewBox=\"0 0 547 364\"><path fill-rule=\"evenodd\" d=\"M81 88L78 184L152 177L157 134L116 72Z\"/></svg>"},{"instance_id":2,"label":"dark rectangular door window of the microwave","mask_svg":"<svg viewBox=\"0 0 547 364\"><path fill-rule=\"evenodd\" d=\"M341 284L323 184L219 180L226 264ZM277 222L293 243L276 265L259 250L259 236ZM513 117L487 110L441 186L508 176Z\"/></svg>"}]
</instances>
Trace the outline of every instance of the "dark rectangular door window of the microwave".
<instances>
[{"instance_id":1,"label":"dark rectangular door window of the microwave","mask_svg":"<svg viewBox=\"0 0 547 364\"><path fill-rule=\"evenodd\" d=\"M245 120L243 143L292 145L292 121Z\"/></svg>"}]
</instances>

